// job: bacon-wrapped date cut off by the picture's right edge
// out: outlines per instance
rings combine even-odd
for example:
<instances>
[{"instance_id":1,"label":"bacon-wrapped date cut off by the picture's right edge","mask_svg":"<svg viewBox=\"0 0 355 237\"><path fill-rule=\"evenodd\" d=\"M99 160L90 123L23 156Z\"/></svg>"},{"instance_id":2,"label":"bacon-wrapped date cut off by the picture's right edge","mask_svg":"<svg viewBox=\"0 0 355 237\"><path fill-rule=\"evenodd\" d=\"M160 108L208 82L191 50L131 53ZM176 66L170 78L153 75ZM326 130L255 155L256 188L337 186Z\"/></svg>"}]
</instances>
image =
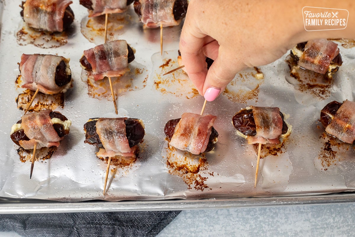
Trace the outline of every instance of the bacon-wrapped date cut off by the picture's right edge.
<instances>
[{"instance_id":1,"label":"bacon-wrapped date cut off by the picture's right edge","mask_svg":"<svg viewBox=\"0 0 355 237\"><path fill-rule=\"evenodd\" d=\"M346 100L340 107L338 107L339 102L334 102L336 101L322 109L322 124L325 125L328 134L351 144L355 140L355 102ZM326 116L329 118L324 122Z\"/></svg>"}]
</instances>

